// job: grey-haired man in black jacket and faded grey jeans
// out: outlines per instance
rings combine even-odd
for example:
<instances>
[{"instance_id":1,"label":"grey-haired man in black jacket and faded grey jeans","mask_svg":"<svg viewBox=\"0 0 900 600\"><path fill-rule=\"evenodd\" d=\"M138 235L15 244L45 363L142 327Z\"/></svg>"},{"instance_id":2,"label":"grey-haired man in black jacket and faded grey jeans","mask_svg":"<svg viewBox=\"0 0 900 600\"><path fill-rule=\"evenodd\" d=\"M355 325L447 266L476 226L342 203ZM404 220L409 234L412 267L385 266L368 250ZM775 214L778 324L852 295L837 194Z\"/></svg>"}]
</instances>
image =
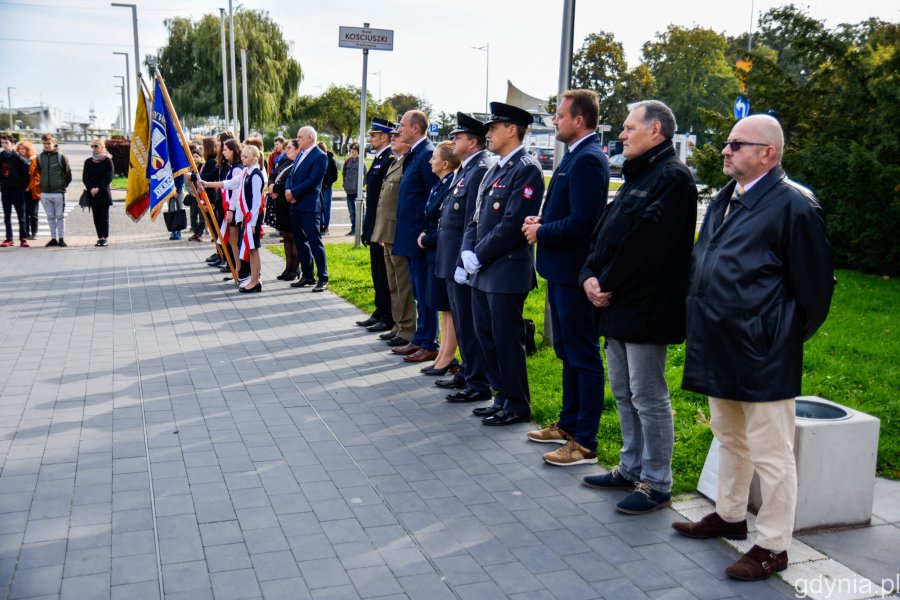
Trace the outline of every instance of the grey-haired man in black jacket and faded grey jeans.
<instances>
[{"instance_id":1,"label":"grey-haired man in black jacket and faded grey jeans","mask_svg":"<svg viewBox=\"0 0 900 600\"><path fill-rule=\"evenodd\" d=\"M672 502L674 421L666 347L684 340L684 297L697 223L697 187L675 156L675 115L657 100L630 108L622 140L625 184L600 218L579 274L606 338L622 449L611 473L584 478L633 489L616 508L642 514Z\"/></svg>"}]
</instances>

